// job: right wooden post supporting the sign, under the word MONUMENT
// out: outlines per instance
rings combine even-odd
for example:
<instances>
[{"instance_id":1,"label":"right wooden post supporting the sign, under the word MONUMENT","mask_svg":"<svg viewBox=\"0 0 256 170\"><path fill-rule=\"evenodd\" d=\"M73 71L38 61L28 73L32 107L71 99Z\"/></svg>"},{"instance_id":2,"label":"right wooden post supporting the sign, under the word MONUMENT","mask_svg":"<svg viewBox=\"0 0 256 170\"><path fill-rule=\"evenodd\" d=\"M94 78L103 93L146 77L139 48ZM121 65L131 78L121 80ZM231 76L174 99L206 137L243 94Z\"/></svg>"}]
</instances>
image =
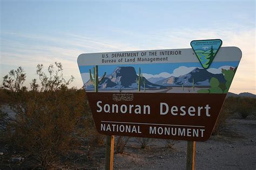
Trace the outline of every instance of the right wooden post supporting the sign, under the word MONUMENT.
<instances>
[{"instance_id":1,"label":"right wooden post supporting the sign, under the word MONUMENT","mask_svg":"<svg viewBox=\"0 0 256 170\"><path fill-rule=\"evenodd\" d=\"M187 141L187 170L194 170L194 159L196 157L196 141Z\"/></svg>"}]
</instances>

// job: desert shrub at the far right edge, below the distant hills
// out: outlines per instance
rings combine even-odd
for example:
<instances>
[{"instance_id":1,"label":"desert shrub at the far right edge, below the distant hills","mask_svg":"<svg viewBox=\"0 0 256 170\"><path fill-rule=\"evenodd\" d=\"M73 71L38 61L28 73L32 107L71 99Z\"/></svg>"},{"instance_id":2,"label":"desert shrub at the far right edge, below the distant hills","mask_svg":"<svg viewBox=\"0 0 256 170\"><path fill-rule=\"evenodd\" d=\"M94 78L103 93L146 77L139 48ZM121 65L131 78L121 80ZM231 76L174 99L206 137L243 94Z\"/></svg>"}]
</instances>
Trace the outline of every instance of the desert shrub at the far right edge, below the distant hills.
<instances>
[{"instance_id":1,"label":"desert shrub at the far right edge, below the distant hills","mask_svg":"<svg viewBox=\"0 0 256 170\"><path fill-rule=\"evenodd\" d=\"M250 97L238 97L236 110L242 118L255 114L256 99Z\"/></svg>"}]
</instances>

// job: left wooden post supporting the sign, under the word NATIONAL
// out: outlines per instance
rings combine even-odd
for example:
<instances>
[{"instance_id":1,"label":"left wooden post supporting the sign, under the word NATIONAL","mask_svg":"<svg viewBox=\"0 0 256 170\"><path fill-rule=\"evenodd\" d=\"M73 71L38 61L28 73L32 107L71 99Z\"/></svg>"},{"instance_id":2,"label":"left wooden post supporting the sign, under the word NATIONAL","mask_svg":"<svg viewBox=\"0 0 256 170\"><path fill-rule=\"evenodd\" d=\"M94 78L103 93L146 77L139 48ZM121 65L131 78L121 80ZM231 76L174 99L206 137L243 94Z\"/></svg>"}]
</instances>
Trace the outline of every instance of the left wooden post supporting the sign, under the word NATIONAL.
<instances>
[{"instance_id":1,"label":"left wooden post supporting the sign, under the word NATIONAL","mask_svg":"<svg viewBox=\"0 0 256 170\"><path fill-rule=\"evenodd\" d=\"M106 136L105 169L112 170L114 162L114 136Z\"/></svg>"}]
</instances>

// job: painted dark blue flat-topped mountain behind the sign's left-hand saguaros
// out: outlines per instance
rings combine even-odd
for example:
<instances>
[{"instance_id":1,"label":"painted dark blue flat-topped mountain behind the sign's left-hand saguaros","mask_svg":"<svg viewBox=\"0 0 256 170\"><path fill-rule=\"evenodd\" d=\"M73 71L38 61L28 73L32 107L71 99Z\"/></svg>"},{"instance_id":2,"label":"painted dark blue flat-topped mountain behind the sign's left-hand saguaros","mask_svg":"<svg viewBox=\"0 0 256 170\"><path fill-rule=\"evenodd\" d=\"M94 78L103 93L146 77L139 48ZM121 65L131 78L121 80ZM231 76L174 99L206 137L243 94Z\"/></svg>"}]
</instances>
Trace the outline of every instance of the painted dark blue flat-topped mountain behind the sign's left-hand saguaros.
<instances>
[{"instance_id":1,"label":"painted dark blue flat-topped mountain behind the sign's left-hand saguaros","mask_svg":"<svg viewBox=\"0 0 256 170\"><path fill-rule=\"evenodd\" d=\"M119 89L138 89L138 83L136 79L139 76L136 73L134 67L117 67L114 69L112 74L107 75L104 80L99 83L99 90L119 90ZM100 78L99 78L100 79ZM142 81L145 80L146 89L164 89L164 86L159 84L154 84L142 78ZM144 88L144 84L140 83L141 88ZM91 81L87 81L84 84L86 90L94 90Z\"/></svg>"}]
</instances>

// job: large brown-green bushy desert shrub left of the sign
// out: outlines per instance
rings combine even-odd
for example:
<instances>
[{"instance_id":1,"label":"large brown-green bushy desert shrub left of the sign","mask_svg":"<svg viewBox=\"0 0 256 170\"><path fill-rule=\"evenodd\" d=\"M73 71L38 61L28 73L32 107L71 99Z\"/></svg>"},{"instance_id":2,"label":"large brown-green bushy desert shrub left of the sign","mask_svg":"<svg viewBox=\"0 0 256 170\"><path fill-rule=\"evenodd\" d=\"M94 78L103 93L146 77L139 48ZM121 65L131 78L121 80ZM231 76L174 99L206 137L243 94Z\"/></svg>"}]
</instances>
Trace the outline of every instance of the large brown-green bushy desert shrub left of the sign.
<instances>
[{"instance_id":1,"label":"large brown-green bushy desert shrub left of the sign","mask_svg":"<svg viewBox=\"0 0 256 170\"><path fill-rule=\"evenodd\" d=\"M43 65L37 65L37 75L40 84L33 79L30 91L23 86L26 74L22 67L4 76L3 87L10 96L8 104L16 114L5 129L12 129L14 145L47 168L59 155L78 144L86 103L81 91L68 88L73 77L64 79L60 63L50 65L48 74L43 72Z\"/></svg>"}]
</instances>

